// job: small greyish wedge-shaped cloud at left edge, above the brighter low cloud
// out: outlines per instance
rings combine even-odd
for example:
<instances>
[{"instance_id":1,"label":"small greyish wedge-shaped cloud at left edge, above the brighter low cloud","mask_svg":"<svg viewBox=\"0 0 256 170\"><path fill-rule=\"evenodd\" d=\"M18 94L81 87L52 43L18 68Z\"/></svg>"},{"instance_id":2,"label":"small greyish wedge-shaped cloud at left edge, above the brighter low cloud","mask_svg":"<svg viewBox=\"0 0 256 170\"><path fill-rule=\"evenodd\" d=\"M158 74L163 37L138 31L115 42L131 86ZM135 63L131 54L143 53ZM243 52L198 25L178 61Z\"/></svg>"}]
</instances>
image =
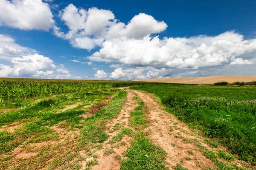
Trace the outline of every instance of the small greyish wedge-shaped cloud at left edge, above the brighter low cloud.
<instances>
[{"instance_id":1,"label":"small greyish wedge-shaped cloud at left edge, above the brighter low cloud","mask_svg":"<svg viewBox=\"0 0 256 170\"><path fill-rule=\"evenodd\" d=\"M12 37L0 34L0 59L11 59L13 56L35 54L35 50L22 47Z\"/></svg>"}]
</instances>

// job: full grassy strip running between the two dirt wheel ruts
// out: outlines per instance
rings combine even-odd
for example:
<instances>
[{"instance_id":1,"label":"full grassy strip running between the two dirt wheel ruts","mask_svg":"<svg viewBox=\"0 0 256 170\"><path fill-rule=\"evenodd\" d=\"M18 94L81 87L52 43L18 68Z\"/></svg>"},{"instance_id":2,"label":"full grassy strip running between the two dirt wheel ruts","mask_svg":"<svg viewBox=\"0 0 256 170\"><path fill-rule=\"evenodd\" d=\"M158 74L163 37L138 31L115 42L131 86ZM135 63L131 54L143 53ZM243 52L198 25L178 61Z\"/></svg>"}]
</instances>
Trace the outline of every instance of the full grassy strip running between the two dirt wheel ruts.
<instances>
[{"instance_id":1,"label":"full grassy strip running between the two dirt wheel ruts","mask_svg":"<svg viewBox=\"0 0 256 170\"><path fill-rule=\"evenodd\" d=\"M167 153L159 146L153 144L147 137L148 132L142 132L148 127L148 120L146 119L145 104L135 94L134 99L139 106L134 108L130 113L130 126L137 130L134 133L131 129L122 129L121 133L131 134L135 136L129 147L123 155L127 158L122 161L121 170L168 170L166 167Z\"/></svg>"}]
</instances>

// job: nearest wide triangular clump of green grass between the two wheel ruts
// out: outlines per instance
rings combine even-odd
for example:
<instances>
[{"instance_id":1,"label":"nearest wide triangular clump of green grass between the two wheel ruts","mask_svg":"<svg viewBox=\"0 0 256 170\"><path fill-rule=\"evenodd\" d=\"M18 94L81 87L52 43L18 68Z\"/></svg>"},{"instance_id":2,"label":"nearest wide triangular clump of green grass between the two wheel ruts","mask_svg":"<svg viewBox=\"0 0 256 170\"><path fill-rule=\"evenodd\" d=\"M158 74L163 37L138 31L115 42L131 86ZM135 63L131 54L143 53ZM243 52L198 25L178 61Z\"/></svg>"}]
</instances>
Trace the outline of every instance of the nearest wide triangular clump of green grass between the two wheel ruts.
<instances>
[{"instance_id":1,"label":"nearest wide triangular clump of green grass between the two wheel ruts","mask_svg":"<svg viewBox=\"0 0 256 170\"><path fill-rule=\"evenodd\" d=\"M131 147L125 151L127 159L121 170L168 170L165 163L166 152L154 145L143 133L137 133Z\"/></svg>"}]
</instances>

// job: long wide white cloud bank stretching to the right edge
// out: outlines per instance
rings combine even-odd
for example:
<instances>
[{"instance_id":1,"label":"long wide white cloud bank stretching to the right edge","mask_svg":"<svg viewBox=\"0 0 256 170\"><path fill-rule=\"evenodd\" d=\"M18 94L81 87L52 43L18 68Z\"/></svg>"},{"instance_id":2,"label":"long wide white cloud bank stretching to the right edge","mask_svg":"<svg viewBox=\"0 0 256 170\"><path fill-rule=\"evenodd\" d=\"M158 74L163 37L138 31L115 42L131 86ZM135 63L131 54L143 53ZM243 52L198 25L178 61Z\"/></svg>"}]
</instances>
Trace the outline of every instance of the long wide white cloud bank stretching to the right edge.
<instances>
[{"instance_id":1,"label":"long wide white cloud bank stretching to the right edge","mask_svg":"<svg viewBox=\"0 0 256 170\"><path fill-rule=\"evenodd\" d=\"M241 34L229 31L215 37L111 39L88 59L155 68L197 69L230 62L238 64L241 60L236 57L251 51L255 54L256 39L244 40Z\"/></svg>"}]
</instances>

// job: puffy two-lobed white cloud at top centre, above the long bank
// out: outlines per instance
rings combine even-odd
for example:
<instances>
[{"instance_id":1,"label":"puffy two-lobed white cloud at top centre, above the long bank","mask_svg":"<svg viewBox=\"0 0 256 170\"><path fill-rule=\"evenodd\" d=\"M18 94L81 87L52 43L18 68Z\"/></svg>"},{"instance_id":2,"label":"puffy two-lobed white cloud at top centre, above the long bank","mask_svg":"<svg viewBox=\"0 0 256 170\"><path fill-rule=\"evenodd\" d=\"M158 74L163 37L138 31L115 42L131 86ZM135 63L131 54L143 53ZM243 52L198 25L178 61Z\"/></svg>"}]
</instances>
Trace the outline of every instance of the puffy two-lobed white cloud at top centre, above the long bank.
<instances>
[{"instance_id":1,"label":"puffy two-lobed white cloud at top centre, above the long bank","mask_svg":"<svg viewBox=\"0 0 256 170\"><path fill-rule=\"evenodd\" d=\"M53 32L57 37L69 40L76 48L91 50L101 46L105 40L113 38L136 38L159 33L167 28L166 23L157 21L154 17L140 13L130 22L119 22L110 10L89 8L78 9L73 4L60 12L61 20L69 28L67 33L55 26Z\"/></svg>"}]
</instances>

